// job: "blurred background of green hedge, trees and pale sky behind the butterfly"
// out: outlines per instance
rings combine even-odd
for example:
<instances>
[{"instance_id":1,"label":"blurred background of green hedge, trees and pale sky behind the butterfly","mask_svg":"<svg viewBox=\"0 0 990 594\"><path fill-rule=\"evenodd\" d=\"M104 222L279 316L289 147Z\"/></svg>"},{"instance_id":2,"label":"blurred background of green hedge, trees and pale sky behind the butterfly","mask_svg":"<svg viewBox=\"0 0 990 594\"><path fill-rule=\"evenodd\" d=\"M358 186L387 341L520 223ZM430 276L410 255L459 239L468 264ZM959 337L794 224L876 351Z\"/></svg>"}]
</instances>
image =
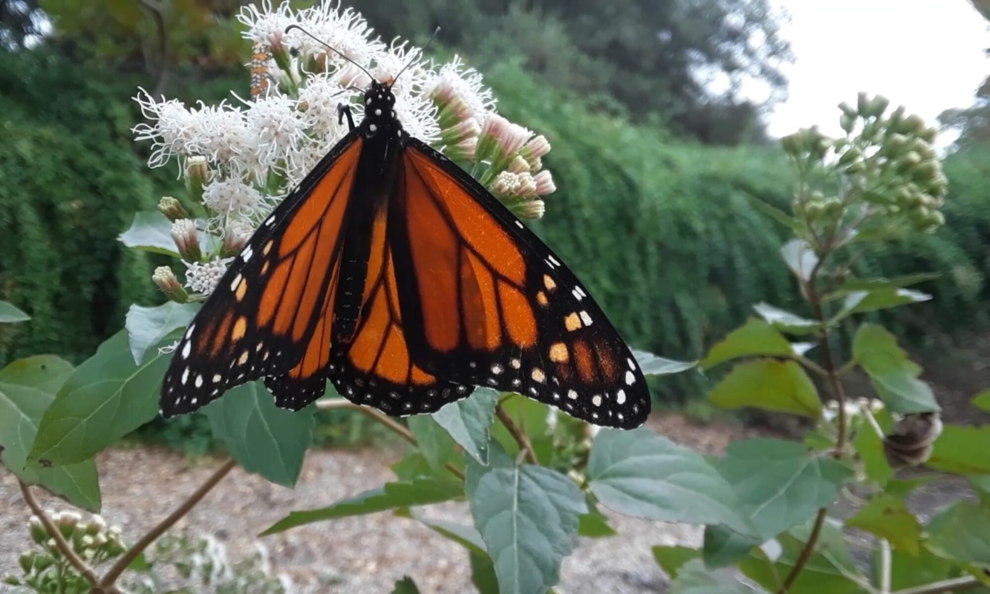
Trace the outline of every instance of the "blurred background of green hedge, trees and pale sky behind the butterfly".
<instances>
[{"instance_id":1,"label":"blurred background of green hedge, trees and pale sky behind the butterfly","mask_svg":"<svg viewBox=\"0 0 990 594\"><path fill-rule=\"evenodd\" d=\"M149 277L162 262L116 237L181 183L173 167L145 165L131 97L139 85L186 102L248 96L242 4L0 0L0 296L33 317L3 329L0 364L38 352L78 362L122 327L131 303L160 302ZM753 303L800 307L778 262L781 230L750 200L789 208L793 179L773 137L838 129L835 105L857 90L903 94L890 98L945 128L947 224L871 254L858 271L944 272L920 287L932 302L884 322L965 392L990 342L984 7L812 5L821 3L354 3L384 39L422 44L442 26L431 51L463 55L502 113L546 135L558 191L538 232L631 344L672 358L699 356ZM955 90L940 94L949 82ZM654 393L692 406L709 381L682 374ZM171 427L182 423L195 421Z\"/></svg>"}]
</instances>

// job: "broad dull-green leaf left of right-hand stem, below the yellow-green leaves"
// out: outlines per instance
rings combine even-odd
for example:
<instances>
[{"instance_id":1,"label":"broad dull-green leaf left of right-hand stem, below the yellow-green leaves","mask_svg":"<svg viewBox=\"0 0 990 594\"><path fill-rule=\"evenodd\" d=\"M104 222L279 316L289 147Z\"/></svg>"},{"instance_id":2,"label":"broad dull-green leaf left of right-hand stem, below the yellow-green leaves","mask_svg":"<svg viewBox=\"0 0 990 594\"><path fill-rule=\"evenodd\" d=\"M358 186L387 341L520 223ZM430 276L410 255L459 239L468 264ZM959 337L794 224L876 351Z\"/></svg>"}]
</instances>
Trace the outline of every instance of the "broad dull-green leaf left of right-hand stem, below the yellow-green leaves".
<instances>
[{"instance_id":1,"label":"broad dull-green leaf left of right-hand stem, below the yellow-green leaves","mask_svg":"<svg viewBox=\"0 0 990 594\"><path fill-rule=\"evenodd\" d=\"M839 497L852 470L805 446L783 440L735 442L716 468L743 505L760 541L807 522Z\"/></svg>"}]
</instances>

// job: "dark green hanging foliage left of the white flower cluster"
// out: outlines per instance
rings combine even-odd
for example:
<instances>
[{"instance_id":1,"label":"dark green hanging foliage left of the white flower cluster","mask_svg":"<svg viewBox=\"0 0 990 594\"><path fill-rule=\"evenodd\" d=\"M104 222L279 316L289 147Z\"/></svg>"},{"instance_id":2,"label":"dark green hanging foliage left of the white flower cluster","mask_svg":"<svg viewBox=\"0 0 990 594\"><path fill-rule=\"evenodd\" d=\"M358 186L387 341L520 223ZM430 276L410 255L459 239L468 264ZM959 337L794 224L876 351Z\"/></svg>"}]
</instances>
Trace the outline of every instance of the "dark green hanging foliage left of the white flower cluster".
<instances>
[{"instance_id":1,"label":"dark green hanging foliage left of the white flower cluster","mask_svg":"<svg viewBox=\"0 0 990 594\"><path fill-rule=\"evenodd\" d=\"M114 238L152 186L126 139L122 96L45 53L0 59L0 293L30 323L0 334L0 361L81 360L148 299L148 260Z\"/></svg>"}]
</instances>

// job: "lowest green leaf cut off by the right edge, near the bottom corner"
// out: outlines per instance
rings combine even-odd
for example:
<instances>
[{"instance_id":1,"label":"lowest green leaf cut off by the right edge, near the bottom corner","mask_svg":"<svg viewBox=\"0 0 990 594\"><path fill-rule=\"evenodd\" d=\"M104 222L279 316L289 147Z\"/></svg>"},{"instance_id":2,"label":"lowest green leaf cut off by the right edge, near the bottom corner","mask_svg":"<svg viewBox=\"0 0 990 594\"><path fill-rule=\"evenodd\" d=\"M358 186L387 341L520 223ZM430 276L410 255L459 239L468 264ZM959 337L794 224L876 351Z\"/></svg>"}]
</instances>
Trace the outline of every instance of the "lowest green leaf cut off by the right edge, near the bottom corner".
<instances>
[{"instance_id":1,"label":"lowest green leaf cut off by the right edge, near the bottom corner","mask_svg":"<svg viewBox=\"0 0 990 594\"><path fill-rule=\"evenodd\" d=\"M990 509L956 501L932 518L925 545L944 559L990 565Z\"/></svg>"}]
</instances>

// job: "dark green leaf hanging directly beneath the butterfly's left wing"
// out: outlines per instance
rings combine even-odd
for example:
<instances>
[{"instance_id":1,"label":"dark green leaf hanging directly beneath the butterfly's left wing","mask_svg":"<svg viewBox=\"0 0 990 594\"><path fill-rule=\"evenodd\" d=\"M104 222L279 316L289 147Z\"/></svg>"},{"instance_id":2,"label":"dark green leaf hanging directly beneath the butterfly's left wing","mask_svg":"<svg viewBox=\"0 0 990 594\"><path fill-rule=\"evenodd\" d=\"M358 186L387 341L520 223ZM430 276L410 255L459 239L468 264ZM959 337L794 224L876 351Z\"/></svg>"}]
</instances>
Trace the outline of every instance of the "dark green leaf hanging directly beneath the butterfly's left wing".
<instances>
[{"instance_id":1,"label":"dark green leaf hanging directly beneath the butterfly's left wing","mask_svg":"<svg viewBox=\"0 0 990 594\"><path fill-rule=\"evenodd\" d=\"M213 437L221 440L247 472L294 486L306 450L313 444L315 406L290 411L275 406L260 381L228 390L203 408Z\"/></svg>"}]
</instances>

